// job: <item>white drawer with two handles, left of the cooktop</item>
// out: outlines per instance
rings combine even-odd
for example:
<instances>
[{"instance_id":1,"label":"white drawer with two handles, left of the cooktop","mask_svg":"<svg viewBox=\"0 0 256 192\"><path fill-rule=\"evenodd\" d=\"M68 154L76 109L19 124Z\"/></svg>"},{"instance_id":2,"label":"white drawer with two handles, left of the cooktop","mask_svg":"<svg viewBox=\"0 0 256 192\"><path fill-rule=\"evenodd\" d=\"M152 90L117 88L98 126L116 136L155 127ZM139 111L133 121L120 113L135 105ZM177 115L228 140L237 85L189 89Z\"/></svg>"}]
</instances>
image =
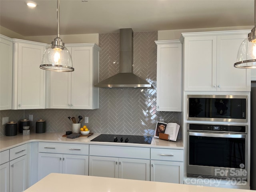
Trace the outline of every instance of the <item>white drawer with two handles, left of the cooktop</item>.
<instances>
[{"instance_id":1,"label":"white drawer with two handles, left of the cooktop","mask_svg":"<svg viewBox=\"0 0 256 192\"><path fill-rule=\"evenodd\" d=\"M38 152L88 155L88 144L39 142Z\"/></svg>"}]
</instances>

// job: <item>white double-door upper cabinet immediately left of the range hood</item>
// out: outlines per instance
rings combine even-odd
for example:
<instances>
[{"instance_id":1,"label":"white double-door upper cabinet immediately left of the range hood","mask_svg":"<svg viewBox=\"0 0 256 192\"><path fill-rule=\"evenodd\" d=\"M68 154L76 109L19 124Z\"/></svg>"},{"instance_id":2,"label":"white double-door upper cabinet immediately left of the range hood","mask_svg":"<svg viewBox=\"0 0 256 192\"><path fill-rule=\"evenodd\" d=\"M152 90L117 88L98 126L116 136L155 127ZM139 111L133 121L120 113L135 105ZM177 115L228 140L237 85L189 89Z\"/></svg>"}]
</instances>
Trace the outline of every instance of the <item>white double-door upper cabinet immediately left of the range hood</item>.
<instances>
[{"instance_id":1,"label":"white double-door upper cabinet immediately left of the range hood","mask_svg":"<svg viewBox=\"0 0 256 192\"><path fill-rule=\"evenodd\" d=\"M98 108L99 50L94 43L66 44L71 53L74 72L49 72L50 108Z\"/></svg>"}]
</instances>

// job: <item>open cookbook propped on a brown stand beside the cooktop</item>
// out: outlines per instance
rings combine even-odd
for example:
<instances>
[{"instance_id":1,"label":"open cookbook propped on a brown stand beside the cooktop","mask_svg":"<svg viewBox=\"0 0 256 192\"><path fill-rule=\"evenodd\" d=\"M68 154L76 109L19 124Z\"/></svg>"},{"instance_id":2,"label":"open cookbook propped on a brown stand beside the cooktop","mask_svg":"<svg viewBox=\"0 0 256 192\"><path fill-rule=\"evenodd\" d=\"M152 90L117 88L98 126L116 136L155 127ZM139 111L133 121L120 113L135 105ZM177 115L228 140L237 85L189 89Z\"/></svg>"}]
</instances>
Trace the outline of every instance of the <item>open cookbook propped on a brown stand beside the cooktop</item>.
<instances>
[{"instance_id":1,"label":"open cookbook propped on a brown stand beside the cooktop","mask_svg":"<svg viewBox=\"0 0 256 192\"><path fill-rule=\"evenodd\" d=\"M154 138L159 138L159 133L168 134L168 140L176 141L180 125L177 123L157 122Z\"/></svg>"}]
</instances>

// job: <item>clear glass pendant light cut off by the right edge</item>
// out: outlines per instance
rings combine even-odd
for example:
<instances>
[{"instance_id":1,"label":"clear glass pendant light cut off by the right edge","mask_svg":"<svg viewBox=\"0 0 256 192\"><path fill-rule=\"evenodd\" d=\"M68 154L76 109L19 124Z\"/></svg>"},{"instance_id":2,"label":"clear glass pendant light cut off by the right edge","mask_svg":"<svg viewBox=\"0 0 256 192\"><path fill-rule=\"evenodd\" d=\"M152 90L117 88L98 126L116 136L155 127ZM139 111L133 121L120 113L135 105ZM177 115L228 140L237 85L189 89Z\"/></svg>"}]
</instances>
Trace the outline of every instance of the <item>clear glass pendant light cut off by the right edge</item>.
<instances>
[{"instance_id":1,"label":"clear glass pendant light cut off by the right edge","mask_svg":"<svg viewBox=\"0 0 256 192\"><path fill-rule=\"evenodd\" d=\"M256 0L254 0L254 28L240 45L234 67L256 68Z\"/></svg>"}]
</instances>

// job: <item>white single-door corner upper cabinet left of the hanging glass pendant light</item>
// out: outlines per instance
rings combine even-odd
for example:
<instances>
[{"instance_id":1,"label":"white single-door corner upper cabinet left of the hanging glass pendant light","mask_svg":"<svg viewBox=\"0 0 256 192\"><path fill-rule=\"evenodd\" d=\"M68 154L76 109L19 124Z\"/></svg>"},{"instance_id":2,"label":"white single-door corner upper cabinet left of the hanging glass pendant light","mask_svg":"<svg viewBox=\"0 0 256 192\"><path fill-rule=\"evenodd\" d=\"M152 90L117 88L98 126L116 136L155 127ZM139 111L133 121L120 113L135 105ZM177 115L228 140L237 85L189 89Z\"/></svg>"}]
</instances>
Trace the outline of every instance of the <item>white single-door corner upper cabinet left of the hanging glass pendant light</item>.
<instances>
[{"instance_id":1,"label":"white single-door corner upper cabinet left of the hanging glass pendant light","mask_svg":"<svg viewBox=\"0 0 256 192\"><path fill-rule=\"evenodd\" d=\"M46 44L13 39L12 109L44 108L44 70L39 66Z\"/></svg>"}]
</instances>

